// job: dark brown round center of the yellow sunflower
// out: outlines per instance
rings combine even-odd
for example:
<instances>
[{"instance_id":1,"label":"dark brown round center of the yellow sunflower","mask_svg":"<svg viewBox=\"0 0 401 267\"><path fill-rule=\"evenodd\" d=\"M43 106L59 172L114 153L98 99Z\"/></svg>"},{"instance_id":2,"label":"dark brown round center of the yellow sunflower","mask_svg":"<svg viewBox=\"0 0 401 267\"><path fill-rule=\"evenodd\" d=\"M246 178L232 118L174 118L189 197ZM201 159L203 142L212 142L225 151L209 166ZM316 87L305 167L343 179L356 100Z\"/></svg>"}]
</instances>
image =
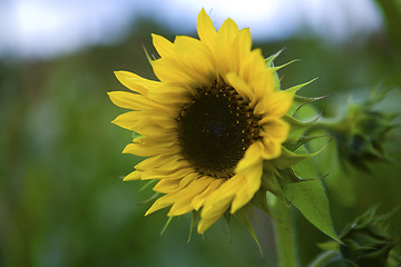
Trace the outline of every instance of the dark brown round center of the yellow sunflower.
<instances>
[{"instance_id":1,"label":"dark brown round center of the yellow sunflower","mask_svg":"<svg viewBox=\"0 0 401 267\"><path fill-rule=\"evenodd\" d=\"M234 88L198 88L178 117L182 155L202 175L229 178L258 138L258 119Z\"/></svg>"}]
</instances>

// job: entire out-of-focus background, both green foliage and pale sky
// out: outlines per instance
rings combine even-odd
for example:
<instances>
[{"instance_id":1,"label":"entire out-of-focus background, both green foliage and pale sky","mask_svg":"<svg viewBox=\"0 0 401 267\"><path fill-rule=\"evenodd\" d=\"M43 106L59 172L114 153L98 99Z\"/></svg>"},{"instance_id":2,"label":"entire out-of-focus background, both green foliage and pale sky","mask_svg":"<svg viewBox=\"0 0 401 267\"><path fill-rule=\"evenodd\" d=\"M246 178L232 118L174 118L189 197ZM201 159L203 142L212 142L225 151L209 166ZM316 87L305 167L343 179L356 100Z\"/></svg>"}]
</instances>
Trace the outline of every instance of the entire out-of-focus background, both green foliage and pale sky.
<instances>
[{"instance_id":1,"label":"entire out-of-focus background, both green foliage and pale sky","mask_svg":"<svg viewBox=\"0 0 401 267\"><path fill-rule=\"evenodd\" d=\"M283 88L320 77L302 93L331 95L316 103L324 116L344 96L401 85L399 0L1 0L0 266L276 266L266 215L254 221L263 255L235 220L187 245L189 216L159 236L166 210L144 217L151 189L120 180L140 159L121 155L131 134L110 123L124 110L106 92L125 90L113 71L155 79L150 33L196 37L202 8L216 27L228 17L250 27L266 57L286 48L276 63L301 59L280 71ZM389 95L383 110L399 112L400 88ZM339 233L375 204L400 206L400 134L387 146L395 164L371 176L324 164L326 179L353 185L351 201L327 186ZM295 222L304 266L327 238L299 214ZM391 222L400 237L400 212Z\"/></svg>"}]
</instances>

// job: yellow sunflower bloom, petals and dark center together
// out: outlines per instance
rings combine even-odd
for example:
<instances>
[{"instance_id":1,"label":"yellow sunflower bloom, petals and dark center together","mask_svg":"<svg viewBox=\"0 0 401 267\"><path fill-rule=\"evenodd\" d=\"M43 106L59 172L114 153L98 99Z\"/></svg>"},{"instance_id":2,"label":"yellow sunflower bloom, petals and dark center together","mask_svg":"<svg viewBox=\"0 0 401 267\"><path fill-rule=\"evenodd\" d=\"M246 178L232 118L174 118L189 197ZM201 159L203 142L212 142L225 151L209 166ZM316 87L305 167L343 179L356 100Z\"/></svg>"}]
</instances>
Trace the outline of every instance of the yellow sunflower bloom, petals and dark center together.
<instances>
[{"instance_id":1,"label":"yellow sunflower bloom, petals and dark center together","mask_svg":"<svg viewBox=\"0 0 401 267\"><path fill-rule=\"evenodd\" d=\"M147 210L170 207L168 217L200 215L203 234L224 214L251 204L261 189L264 161L280 157L293 102L282 91L250 29L227 19L218 31L204 10L199 40L174 42L153 34L160 58L150 60L159 81L127 71L117 79L134 92L109 92L130 109L113 122L139 135L123 152L147 157L124 180L158 180L162 197Z\"/></svg>"}]
</instances>

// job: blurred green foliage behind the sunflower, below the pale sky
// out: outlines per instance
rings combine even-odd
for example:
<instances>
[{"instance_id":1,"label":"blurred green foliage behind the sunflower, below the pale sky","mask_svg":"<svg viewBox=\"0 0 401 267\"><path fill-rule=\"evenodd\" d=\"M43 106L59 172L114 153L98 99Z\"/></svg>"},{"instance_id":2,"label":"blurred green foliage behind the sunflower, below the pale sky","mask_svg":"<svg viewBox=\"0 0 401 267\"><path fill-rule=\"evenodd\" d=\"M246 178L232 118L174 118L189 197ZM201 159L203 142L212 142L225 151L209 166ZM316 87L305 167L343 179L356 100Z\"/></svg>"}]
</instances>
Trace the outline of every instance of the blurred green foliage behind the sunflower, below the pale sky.
<instances>
[{"instance_id":1,"label":"blurred green foliage behind the sunflower, below the pale sky","mask_svg":"<svg viewBox=\"0 0 401 267\"><path fill-rule=\"evenodd\" d=\"M131 134L110 123L124 110L106 92L125 90L113 71L155 79L143 44L155 53L151 32L174 39L150 21L136 23L119 43L52 60L1 59L0 266L276 266L267 216L256 211L263 256L237 221L232 221L231 234L221 220L187 245L189 216L173 220L159 237L166 212L144 217L149 204L141 202L150 189L139 191L144 184L120 180L139 158L120 154ZM331 102L350 90L401 85L400 50L383 32L329 42L305 31L254 47L262 47L266 57L286 47L277 63L302 60L280 71L283 88L320 77L302 93L331 95L316 103L324 116L335 115ZM398 107L400 91L388 100L384 106ZM325 179L352 178L355 189L355 205L346 206L329 182L338 231L378 202L383 211L401 204L400 134L397 129L388 146L398 164L373 166L374 178L323 162L324 170L333 172ZM295 219L304 266L326 237L299 214ZM400 236L400 212L392 225Z\"/></svg>"}]
</instances>

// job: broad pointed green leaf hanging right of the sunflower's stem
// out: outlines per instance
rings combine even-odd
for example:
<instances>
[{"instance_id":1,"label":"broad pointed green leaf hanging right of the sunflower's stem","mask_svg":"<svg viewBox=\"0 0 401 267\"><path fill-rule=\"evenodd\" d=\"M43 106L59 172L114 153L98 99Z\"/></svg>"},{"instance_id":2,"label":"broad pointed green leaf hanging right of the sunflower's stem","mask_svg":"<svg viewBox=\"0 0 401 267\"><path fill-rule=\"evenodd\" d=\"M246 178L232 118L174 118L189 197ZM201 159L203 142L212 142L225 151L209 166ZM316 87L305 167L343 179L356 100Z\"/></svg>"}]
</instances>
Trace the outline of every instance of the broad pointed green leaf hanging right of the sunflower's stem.
<instances>
[{"instance_id":1,"label":"broad pointed green leaf hanging right of the sunflower's stem","mask_svg":"<svg viewBox=\"0 0 401 267\"><path fill-rule=\"evenodd\" d=\"M332 224L329 199L321 180L282 185L285 197L317 229L340 241Z\"/></svg>"}]
</instances>

